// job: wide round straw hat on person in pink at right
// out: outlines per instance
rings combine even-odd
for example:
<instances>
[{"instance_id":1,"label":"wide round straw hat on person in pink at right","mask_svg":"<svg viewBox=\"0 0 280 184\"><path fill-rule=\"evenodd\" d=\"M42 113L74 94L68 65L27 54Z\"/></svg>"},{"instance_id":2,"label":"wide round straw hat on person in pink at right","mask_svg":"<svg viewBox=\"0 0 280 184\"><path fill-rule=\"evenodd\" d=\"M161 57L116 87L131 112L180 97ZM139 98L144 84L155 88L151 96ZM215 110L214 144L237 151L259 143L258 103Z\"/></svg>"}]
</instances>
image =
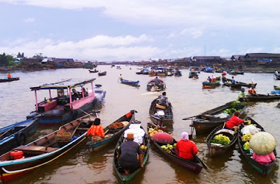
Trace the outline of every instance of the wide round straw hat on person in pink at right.
<instances>
[{"instance_id":1,"label":"wide round straw hat on person in pink at right","mask_svg":"<svg viewBox=\"0 0 280 184\"><path fill-rule=\"evenodd\" d=\"M258 132L251 137L250 147L258 155L267 155L276 148L276 139L267 132Z\"/></svg>"}]
</instances>

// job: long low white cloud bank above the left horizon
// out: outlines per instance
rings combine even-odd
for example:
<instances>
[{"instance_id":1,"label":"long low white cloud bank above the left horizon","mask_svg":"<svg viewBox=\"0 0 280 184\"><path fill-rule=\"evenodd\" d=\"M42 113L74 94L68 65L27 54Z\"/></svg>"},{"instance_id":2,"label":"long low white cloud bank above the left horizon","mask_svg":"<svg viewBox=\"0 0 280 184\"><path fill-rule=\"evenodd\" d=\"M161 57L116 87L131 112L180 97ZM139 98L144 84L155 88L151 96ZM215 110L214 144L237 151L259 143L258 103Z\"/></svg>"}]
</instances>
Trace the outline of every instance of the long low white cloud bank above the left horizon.
<instances>
[{"instance_id":1,"label":"long low white cloud bank above the left horizon","mask_svg":"<svg viewBox=\"0 0 280 184\"><path fill-rule=\"evenodd\" d=\"M71 57L74 59L97 59L99 61L116 59L146 59L154 54L161 54L163 51L158 47L142 46L141 43L148 43L153 40L148 36L94 36L78 42L39 39L15 40L14 45L0 47L6 53L24 52L25 56L34 56L36 53L43 53L45 56Z\"/></svg>"}]
</instances>

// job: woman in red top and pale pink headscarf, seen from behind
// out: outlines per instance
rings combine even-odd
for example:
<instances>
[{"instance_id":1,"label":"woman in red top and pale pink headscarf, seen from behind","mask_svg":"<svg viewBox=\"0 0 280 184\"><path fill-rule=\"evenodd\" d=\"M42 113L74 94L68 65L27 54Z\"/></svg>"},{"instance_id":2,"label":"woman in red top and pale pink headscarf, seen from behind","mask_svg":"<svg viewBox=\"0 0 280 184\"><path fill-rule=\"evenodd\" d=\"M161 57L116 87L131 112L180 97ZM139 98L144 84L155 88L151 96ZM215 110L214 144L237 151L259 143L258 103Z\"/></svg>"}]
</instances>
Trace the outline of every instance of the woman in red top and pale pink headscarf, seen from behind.
<instances>
[{"instance_id":1,"label":"woman in red top and pale pink headscarf, seen from behind","mask_svg":"<svg viewBox=\"0 0 280 184\"><path fill-rule=\"evenodd\" d=\"M181 134L181 138L182 139L180 141L177 141L176 144L176 155L188 160L195 160L194 156L197 154L198 151L197 146L193 141L190 141L188 139L187 132L183 132Z\"/></svg>"}]
</instances>

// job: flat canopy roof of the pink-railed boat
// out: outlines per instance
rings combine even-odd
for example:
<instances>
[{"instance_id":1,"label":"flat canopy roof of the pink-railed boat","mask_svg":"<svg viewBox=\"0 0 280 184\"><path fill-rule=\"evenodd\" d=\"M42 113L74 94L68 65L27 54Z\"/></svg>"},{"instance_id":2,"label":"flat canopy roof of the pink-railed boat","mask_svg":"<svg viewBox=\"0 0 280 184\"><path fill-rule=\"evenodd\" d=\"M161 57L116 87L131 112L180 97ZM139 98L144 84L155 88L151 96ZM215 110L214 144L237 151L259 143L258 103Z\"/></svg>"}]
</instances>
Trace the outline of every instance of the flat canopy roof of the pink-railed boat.
<instances>
[{"instance_id":1,"label":"flat canopy roof of the pink-railed boat","mask_svg":"<svg viewBox=\"0 0 280 184\"><path fill-rule=\"evenodd\" d=\"M41 89L69 89L75 88L77 86L85 86L85 84L92 83L95 78L85 80L80 82L78 79L66 79L60 82L55 82L51 84L43 84L42 86L31 87L31 91L41 90Z\"/></svg>"}]
</instances>

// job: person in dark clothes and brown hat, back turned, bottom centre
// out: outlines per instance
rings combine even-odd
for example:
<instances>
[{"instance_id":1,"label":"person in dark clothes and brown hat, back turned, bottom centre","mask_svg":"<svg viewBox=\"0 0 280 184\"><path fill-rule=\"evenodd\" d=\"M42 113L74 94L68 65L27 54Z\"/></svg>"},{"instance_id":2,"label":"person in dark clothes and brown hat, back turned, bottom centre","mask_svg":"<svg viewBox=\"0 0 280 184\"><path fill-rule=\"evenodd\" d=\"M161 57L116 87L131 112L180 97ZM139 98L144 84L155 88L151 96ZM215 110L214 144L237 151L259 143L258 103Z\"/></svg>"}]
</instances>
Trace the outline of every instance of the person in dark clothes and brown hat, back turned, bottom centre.
<instances>
[{"instance_id":1,"label":"person in dark clothes and brown hat, back turned, bottom centre","mask_svg":"<svg viewBox=\"0 0 280 184\"><path fill-rule=\"evenodd\" d=\"M125 170L125 174L130 174L139 167L143 167L143 151L139 144L133 141L133 133L127 133L126 139L127 141L120 144L120 148L118 148L117 158L120 167Z\"/></svg>"}]
</instances>

